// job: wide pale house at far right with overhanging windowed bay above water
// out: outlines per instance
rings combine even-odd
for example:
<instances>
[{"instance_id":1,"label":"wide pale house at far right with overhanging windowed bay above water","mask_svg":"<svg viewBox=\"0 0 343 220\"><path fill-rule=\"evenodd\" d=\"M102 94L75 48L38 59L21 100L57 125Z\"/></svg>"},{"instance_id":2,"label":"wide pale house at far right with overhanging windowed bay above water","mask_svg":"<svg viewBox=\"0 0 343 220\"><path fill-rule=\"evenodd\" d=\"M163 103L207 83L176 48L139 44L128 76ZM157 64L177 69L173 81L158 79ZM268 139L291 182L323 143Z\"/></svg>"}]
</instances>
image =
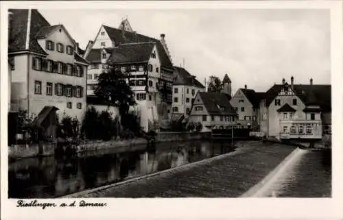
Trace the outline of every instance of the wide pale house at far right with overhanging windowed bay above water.
<instances>
[{"instance_id":1,"label":"wide pale house at far right with overhanging windowed bay above water","mask_svg":"<svg viewBox=\"0 0 343 220\"><path fill-rule=\"evenodd\" d=\"M261 132L278 139L318 140L331 131L331 86L275 84L260 103Z\"/></svg>"}]
</instances>

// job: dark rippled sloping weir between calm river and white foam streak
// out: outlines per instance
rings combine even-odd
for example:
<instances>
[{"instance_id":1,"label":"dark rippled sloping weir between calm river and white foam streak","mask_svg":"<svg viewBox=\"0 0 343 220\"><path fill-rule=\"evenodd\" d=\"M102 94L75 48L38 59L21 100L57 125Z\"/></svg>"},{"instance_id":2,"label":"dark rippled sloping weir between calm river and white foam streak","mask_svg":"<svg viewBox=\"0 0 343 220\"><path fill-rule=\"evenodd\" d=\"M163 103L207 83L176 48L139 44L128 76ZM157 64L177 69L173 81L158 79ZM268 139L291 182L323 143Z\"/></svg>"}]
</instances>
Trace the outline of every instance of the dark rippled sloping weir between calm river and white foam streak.
<instances>
[{"instance_id":1,"label":"dark rippled sloping weir between calm river and white foam streak","mask_svg":"<svg viewBox=\"0 0 343 220\"><path fill-rule=\"evenodd\" d=\"M233 154L119 184L77 197L239 197L296 147L271 143L238 146Z\"/></svg>"}]
</instances>

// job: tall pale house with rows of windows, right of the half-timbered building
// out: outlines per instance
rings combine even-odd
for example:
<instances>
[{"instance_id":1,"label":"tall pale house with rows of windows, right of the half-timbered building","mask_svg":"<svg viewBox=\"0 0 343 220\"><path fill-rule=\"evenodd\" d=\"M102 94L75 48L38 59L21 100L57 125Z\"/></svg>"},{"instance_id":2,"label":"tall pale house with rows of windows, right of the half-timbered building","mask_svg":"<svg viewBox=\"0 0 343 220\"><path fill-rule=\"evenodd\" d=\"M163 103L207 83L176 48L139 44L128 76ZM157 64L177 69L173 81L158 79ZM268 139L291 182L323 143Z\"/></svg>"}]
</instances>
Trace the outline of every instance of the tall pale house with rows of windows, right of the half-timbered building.
<instances>
[{"instance_id":1,"label":"tall pale house with rows of windows, right of the half-timbered building","mask_svg":"<svg viewBox=\"0 0 343 220\"><path fill-rule=\"evenodd\" d=\"M191 106L198 92L204 92L203 86L196 76L191 75L185 68L174 66L175 80L173 83L173 103L171 106L172 119L179 119L191 112Z\"/></svg>"}]
</instances>

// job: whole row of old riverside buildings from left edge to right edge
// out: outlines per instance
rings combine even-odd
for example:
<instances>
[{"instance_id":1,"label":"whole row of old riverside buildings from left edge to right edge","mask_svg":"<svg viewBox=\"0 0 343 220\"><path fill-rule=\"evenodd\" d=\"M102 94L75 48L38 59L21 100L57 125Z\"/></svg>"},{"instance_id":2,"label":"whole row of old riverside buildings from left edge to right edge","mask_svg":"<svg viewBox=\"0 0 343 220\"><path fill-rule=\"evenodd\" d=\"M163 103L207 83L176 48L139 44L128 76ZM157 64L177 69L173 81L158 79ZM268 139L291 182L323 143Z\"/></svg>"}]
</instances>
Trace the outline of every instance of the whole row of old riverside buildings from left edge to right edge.
<instances>
[{"instance_id":1,"label":"whole row of old riverside buildings from left edge to right edge","mask_svg":"<svg viewBox=\"0 0 343 220\"><path fill-rule=\"evenodd\" d=\"M232 95L225 75L222 93L207 93L194 75L174 66L165 34L138 34L126 19L118 28L102 25L82 50L64 25L50 25L38 10L9 13L9 111L24 109L47 121L57 110L82 121L93 106L115 116L117 108L94 93L99 75L114 69L125 73L137 101L130 110L145 131L150 122L167 127L180 117L202 123L204 131L252 126L278 138L319 136L331 125L331 86L292 78L263 93L245 86Z\"/></svg>"}]
</instances>

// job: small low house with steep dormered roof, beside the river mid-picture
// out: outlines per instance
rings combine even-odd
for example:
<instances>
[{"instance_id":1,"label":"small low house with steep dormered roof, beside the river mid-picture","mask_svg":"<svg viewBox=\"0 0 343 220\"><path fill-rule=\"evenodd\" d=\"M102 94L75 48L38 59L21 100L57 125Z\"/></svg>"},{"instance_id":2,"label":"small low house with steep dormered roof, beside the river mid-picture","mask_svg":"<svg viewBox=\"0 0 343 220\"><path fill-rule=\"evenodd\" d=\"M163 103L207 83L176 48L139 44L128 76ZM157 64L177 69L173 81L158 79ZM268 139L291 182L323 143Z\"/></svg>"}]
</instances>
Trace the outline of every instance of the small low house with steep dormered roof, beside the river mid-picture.
<instances>
[{"instance_id":1,"label":"small low house with steep dormered roof, beside the river mid-picture","mask_svg":"<svg viewBox=\"0 0 343 220\"><path fill-rule=\"evenodd\" d=\"M237 125L237 112L230 105L230 95L198 92L189 121L202 123L203 131L226 129L230 125Z\"/></svg>"}]
</instances>

